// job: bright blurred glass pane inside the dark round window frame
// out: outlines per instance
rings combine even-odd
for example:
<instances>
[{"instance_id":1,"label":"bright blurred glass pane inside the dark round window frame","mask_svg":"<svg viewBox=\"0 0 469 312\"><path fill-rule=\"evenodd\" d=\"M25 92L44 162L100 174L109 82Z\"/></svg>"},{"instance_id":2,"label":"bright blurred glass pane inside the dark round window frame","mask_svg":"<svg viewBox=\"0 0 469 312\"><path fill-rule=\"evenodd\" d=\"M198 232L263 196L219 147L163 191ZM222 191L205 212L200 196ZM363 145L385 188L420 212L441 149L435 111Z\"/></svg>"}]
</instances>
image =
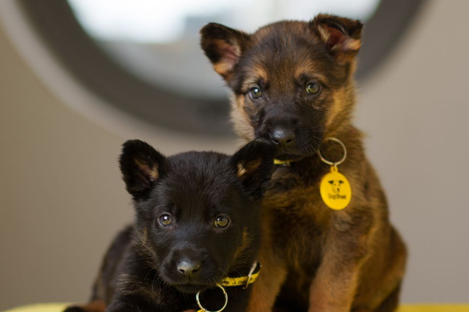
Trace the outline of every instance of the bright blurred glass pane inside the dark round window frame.
<instances>
[{"instance_id":1,"label":"bright blurred glass pane inside the dark round window frame","mask_svg":"<svg viewBox=\"0 0 469 312\"><path fill-rule=\"evenodd\" d=\"M188 97L226 98L199 47L199 30L216 21L254 32L277 20L320 12L368 20L380 0L68 0L88 35L132 74Z\"/></svg>"}]
</instances>

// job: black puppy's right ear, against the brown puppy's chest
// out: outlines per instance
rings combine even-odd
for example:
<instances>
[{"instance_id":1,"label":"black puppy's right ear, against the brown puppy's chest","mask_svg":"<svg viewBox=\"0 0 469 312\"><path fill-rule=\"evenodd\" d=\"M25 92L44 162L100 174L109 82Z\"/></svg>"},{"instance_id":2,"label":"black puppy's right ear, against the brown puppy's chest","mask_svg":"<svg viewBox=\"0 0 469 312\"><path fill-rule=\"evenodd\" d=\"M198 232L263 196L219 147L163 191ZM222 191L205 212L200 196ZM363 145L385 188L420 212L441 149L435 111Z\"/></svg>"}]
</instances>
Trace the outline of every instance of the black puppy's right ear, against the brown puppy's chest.
<instances>
[{"instance_id":1,"label":"black puppy's right ear, against the brown puppy's chest","mask_svg":"<svg viewBox=\"0 0 469 312\"><path fill-rule=\"evenodd\" d=\"M274 168L275 146L268 140L256 139L240 148L232 157L232 166L242 185L260 197L267 188Z\"/></svg>"}]
</instances>

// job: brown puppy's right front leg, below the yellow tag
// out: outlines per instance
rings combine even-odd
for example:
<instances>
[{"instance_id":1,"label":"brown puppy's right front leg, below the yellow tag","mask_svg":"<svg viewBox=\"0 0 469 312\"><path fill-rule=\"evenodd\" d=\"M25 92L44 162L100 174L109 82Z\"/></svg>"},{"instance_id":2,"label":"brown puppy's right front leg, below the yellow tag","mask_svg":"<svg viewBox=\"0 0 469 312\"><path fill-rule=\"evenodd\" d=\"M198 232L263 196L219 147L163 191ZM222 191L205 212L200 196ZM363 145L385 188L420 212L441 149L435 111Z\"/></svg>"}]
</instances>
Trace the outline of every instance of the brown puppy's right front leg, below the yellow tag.
<instances>
[{"instance_id":1,"label":"brown puppy's right front leg, below the yellow tag","mask_svg":"<svg viewBox=\"0 0 469 312\"><path fill-rule=\"evenodd\" d=\"M326 238L320 267L309 292L308 312L350 312L362 264L368 254L367 226L334 227Z\"/></svg>"}]
</instances>

